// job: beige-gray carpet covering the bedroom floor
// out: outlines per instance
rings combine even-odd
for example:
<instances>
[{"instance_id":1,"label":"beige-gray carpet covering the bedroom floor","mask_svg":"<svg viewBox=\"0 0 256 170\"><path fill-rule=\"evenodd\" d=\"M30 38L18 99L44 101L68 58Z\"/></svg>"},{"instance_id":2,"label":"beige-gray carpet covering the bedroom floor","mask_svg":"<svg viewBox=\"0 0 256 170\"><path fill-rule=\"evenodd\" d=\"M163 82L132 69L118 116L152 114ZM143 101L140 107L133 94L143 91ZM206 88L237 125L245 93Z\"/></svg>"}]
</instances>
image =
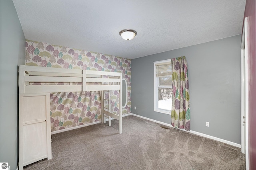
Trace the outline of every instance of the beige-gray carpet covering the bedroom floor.
<instances>
[{"instance_id":1,"label":"beige-gray carpet covering the bedroom floor","mask_svg":"<svg viewBox=\"0 0 256 170\"><path fill-rule=\"evenodd\" d=\"M108 123L108 122L107 122ZM25 170L245 170L240 148L132 115L52 135L52 159Z\"/></svg>"}]
</instances>

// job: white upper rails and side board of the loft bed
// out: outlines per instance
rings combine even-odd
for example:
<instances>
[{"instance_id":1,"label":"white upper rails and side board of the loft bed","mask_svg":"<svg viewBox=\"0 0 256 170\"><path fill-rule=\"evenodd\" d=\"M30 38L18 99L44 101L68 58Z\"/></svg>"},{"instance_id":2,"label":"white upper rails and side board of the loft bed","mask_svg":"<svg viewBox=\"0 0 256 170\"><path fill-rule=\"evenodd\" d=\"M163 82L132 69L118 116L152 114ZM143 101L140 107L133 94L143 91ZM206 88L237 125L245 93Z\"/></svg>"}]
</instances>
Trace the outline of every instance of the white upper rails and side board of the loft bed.
<instances>
[{"instance_id":1,"label":"white upper rails and side board of the loft bed","mask_svg":"<svg viewBox=\"0 0 256 170\"><path fill-rule=\"evenodd\" d=\"M121 82L120 72L26 65L19 68L20 94L120 90Z\"/></svg>"}]
</instances>

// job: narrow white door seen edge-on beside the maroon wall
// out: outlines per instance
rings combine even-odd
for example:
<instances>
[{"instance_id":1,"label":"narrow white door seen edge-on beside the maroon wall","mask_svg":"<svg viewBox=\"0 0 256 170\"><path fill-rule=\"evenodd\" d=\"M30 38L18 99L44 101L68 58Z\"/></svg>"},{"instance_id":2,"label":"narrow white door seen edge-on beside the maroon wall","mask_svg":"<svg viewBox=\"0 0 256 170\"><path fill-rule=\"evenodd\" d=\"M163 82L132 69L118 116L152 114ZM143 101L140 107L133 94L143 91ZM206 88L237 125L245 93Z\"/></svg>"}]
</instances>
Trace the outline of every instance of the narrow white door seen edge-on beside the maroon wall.
<instances>
[{"instance_id":1,"label":"narrow white door seen edge-on beside the maroon wall","mask_svg":"<svg viewBox=\"0 0 256 170\"><path fill-rule=\"evenodd\" d=\"M249 170L248 154L248 22L244 18L241 42L241 151L246 156L246 169Z\"/></svg>"}]
</instances>

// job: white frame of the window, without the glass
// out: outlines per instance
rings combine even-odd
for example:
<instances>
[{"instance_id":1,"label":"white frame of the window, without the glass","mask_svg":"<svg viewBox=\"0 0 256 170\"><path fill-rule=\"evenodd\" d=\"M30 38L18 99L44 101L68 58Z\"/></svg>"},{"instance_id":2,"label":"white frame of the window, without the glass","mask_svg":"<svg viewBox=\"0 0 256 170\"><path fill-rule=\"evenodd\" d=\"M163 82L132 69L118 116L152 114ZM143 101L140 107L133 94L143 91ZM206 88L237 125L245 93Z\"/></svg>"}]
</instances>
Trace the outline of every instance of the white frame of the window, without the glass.
<instances>
[{"instance_id":1,"label":"white frame of the window, without the glass","mask_svg":"<svg viewBox=\"0 0 256 170\"><path fill-rule=\"evenodd\" d=\"M165 113L168 115L171 115L171 110L166 110L166 109L160 109L158 108L158 87L166 87L166 86L158 86L158 77L156 76L156 64L161 64L161 63L167 63L171 62L172 59L168 60L162 60L162 61L155 61L154 63L154 111L159 112L159 113Z\"/></svg>"}]
</instances>

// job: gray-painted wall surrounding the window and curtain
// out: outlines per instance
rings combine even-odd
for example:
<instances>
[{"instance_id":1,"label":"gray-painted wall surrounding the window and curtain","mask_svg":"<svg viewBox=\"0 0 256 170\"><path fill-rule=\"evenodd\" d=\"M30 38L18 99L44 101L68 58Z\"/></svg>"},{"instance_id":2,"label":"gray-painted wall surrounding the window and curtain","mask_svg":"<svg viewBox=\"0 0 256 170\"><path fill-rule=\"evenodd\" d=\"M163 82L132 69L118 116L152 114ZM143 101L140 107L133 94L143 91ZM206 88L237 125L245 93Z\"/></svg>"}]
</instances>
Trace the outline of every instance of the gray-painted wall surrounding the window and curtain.
<instances>
[{"instance_id":1,"label":"gray-painted wall surrounding the window and curtain","mask_svg":"<svg viewBox=\"0 0 256 170\"><path fill-rule=\"evenodd\" d=\"M241 144L240 43L236 35L133 59L132 113L171 124L170 115L154 112L153 62L186 56L190 130Z\"/></svg>"}]
</instances>

